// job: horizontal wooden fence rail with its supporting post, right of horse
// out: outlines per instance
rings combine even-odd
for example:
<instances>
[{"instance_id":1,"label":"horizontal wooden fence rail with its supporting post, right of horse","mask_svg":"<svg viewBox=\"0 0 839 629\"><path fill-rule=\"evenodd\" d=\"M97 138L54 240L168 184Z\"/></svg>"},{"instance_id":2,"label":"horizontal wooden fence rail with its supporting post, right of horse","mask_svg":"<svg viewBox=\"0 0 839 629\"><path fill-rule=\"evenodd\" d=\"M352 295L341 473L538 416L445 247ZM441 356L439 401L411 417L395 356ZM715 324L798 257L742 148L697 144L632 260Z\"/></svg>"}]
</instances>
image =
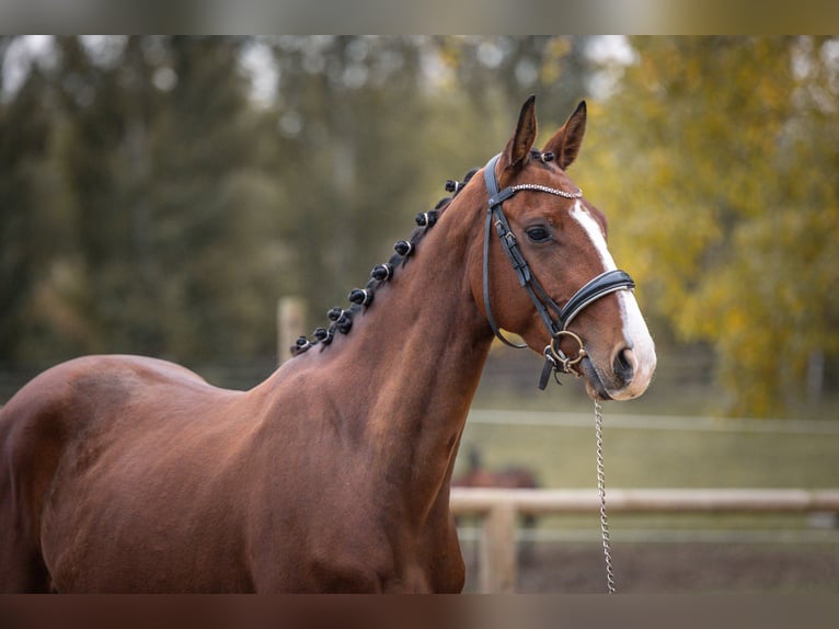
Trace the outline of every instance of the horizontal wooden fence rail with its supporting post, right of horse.
<instances>
[{"instance_id":1,"label":"horizontal wooden fence rail with its supporting post, right of horse","mask_svg":"<svg viewBox=\"0 0 839 629\"><path fill-rule=\"evenodd\" d=\"M451 488L455 515L483 518L479 587L515 592L516 517L596 513L593 490ZM839 513L839 490L802 489L610 489L609 513Z\"/></svg>"}]
</instances>

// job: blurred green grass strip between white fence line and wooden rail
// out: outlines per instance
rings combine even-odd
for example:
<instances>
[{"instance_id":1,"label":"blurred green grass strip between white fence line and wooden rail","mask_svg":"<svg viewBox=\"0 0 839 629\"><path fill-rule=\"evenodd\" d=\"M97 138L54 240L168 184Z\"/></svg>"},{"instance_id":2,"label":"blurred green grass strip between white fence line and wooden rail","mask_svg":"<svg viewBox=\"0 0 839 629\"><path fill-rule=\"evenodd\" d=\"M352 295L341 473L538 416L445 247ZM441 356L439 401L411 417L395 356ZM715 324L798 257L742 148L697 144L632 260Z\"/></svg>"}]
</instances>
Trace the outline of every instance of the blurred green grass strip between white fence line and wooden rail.
<instances>
[{"instance_id":1,"label":"blurred green grass strip between white fence line and wooden rail","mask_svg":"<svg viewBox=\"0 0 839 629\"><path fill-rule=\"evenodd\" d=\"M542 487L593 485L594 416L590 427L517 425L517 416L509 412L507 425L468 422L461 450L478 447L489 468L528 467ZM611 487L839 487L839 433L617 428L621 418L608 411L605 421Z\"/></svg>"}]
</instances>

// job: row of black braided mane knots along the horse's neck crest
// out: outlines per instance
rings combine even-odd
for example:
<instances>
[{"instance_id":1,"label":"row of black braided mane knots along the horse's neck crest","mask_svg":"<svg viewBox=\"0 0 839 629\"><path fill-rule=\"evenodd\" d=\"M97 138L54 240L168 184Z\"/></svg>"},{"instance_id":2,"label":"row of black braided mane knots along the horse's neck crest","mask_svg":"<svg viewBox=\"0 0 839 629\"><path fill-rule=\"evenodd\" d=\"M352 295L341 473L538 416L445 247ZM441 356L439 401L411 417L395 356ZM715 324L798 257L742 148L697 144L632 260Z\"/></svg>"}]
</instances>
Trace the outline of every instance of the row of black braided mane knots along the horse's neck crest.
<instances>
[{"instance_id":1,"label":"row of black braided mane knots along the horse's neck crest","mask_svg":"<svg viewBox=\"0 0 839 629\"><path fill-rule=\"evenodd\" d=\"M478 170L479 169L472 169L469 172L467 172L462 182L447 182L447 190L449 190L448 183L456 184L452 186L453 190L450 191L452 192L452 195L445 196L440 201L438 201L437 205L434 206L433 213L436 213L437 215L441 216L443 213L451 204L452 199L458 194L460 194L460 191L463 190L463 187L469 183L469 181L478 172ZM432 214L432 213L428 213L428 214ZM407 263L409 258L416 250L416 247L420 244L423 237L432 228L432 226L433 226L433 222L429 222L424 227L416 228L411 233L411 238L407 240L407 242L410 243L409 251L404 255L401 255L400 253L394 253L390 258L387 264L390 266L393 274L396 273L398 268L401 268ZM300 354L308 352L315 345L320 345L321 351L323 351L325 350L327 345L332 343L336 333L341 332L342 334L348 334L353 327L354 317L361 310L370 307L370 305L373 301L376 290L379 288L379 286L381 286L386 282L389 282L390 279L392 279L392 276L388 276L384 279L376 279L371 277L369 282L367 282L367 286L365 287L365 291L367 293L365 294L364 304L366 305L353 304L347 309L332 308L329 311L329 319L332 322L331 325L329 328L318 328L314 331L314 340L309 340L307 336L300 336L297 340L297 343L292 345L291 347L289 347L291 355L299 356Z\"/></svg>"}]
</instances>

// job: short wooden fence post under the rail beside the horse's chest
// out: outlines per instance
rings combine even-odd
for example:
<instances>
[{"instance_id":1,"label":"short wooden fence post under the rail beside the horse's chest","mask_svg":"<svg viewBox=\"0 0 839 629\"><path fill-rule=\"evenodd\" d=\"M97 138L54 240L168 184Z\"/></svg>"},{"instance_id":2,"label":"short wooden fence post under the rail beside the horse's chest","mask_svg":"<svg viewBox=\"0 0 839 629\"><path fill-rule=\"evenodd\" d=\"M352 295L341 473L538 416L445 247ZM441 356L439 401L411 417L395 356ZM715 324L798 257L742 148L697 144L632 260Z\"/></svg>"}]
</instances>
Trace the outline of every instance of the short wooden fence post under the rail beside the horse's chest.
<instances>
[{"instance_id":1,"label":"short wooden fence post under the rail beside the horse's chest","mask_svg":"<svg viewBox=\"0 0 839 629\"><path fill-rule=\"evenodd\" d=\"M484 518L479 563L481 592L515 592L516 561L516 508L510 502L499 503Z\"/></svg>"}]
</instances>

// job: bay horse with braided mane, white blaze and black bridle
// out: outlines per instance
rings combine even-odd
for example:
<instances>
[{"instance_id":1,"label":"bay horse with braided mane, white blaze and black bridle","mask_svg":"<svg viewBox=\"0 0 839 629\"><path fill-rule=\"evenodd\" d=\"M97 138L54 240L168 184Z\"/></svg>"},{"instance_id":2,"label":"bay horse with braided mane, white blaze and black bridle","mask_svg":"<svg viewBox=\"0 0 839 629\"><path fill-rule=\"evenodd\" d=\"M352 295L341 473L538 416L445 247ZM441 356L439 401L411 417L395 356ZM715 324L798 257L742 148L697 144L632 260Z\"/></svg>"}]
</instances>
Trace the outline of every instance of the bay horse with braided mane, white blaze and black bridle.
<instances>
[{"instance_id":1,"label":"bay horse with braided mane, white blaze and black bridle","mask_svg":"<svg viewBox=\"0 0 839 629\"><path fill-rule=\"evenodd\" d=\"M114 355L25 385L0 411L0 591L461 591L449 483L494 333L596 399L655 368L565 173L585 126L581 103L535 150L528 99L504 150L249 391Z\"/></svg>"}]
</instances>

